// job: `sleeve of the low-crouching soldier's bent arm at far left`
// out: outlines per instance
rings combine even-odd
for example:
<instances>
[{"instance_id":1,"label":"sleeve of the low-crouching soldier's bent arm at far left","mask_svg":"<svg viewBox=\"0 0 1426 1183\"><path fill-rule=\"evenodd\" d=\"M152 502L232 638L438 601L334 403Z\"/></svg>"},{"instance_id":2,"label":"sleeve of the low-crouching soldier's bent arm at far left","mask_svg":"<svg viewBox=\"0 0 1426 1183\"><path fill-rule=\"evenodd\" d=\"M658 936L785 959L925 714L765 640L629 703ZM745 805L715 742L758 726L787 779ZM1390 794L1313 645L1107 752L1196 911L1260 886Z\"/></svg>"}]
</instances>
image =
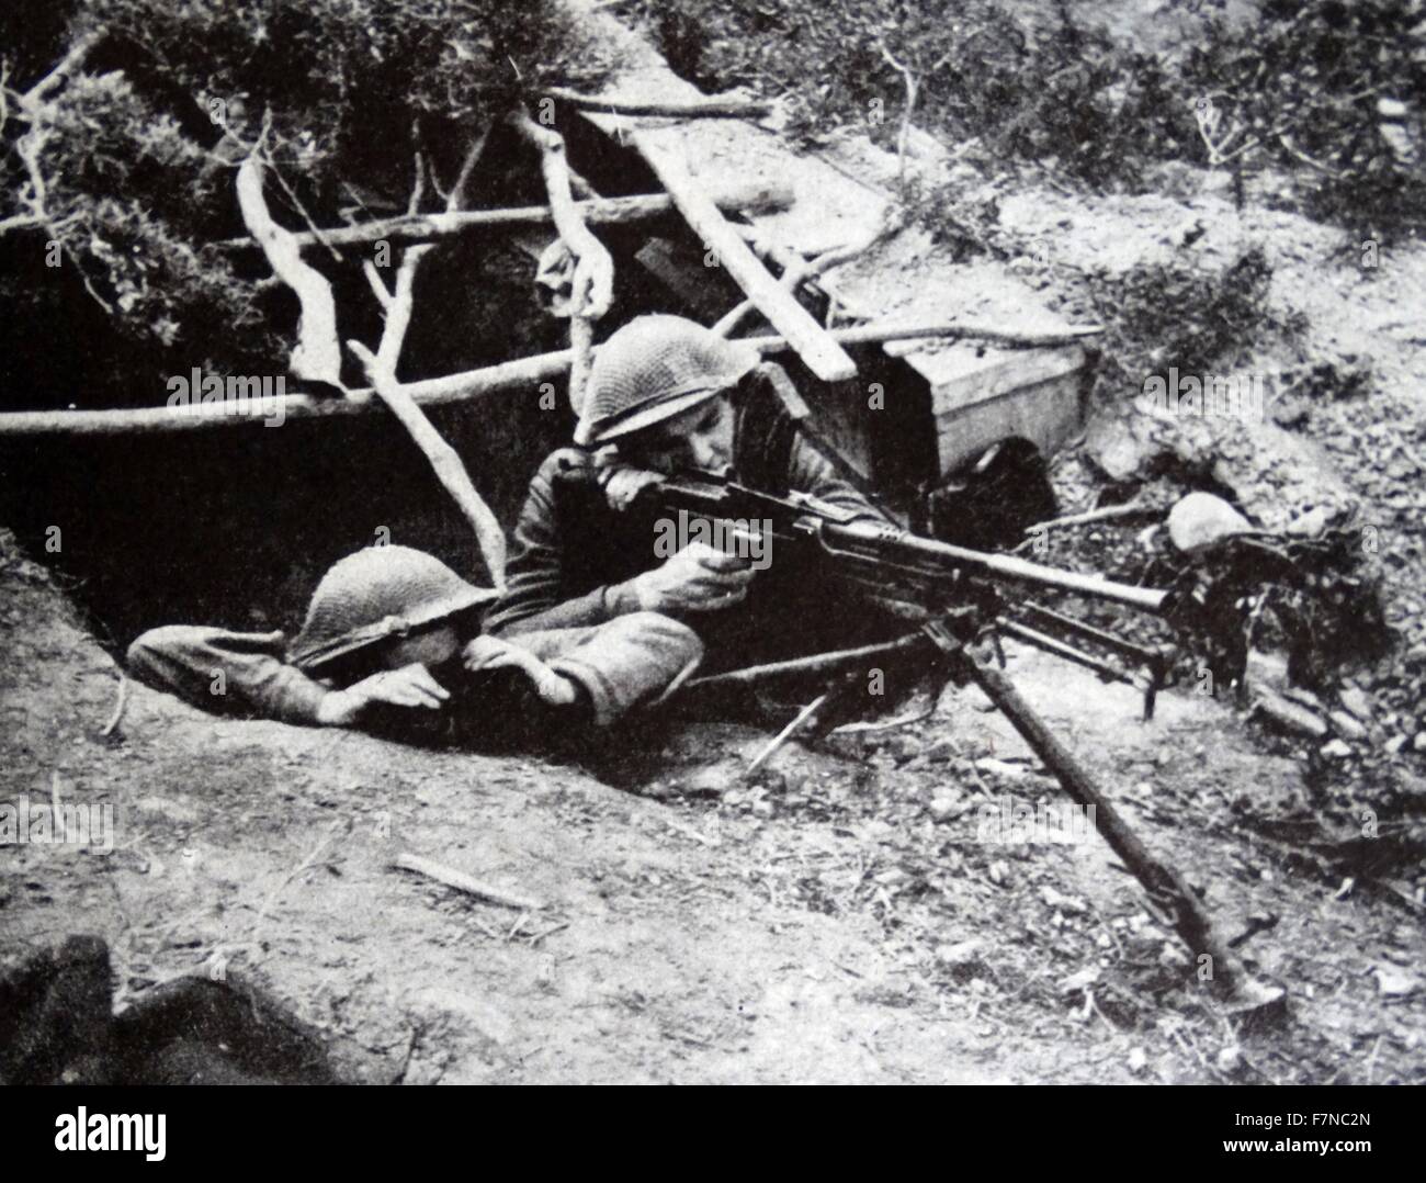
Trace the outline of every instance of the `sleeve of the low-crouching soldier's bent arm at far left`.
<instances>
[{"instance_id":1,"label":"sleeve of the low-crouching soldier's bent arm at far left","mask_svg":"<svg viewBox=\"0 0 1426 1183\"><path fill-rule=\"evenodd\" d=\"M167 625L128 646L128 668L143 682L220 715L317 723L329 692L282 659L281 632L228 632Z\"/></svg>"}]
</instances>

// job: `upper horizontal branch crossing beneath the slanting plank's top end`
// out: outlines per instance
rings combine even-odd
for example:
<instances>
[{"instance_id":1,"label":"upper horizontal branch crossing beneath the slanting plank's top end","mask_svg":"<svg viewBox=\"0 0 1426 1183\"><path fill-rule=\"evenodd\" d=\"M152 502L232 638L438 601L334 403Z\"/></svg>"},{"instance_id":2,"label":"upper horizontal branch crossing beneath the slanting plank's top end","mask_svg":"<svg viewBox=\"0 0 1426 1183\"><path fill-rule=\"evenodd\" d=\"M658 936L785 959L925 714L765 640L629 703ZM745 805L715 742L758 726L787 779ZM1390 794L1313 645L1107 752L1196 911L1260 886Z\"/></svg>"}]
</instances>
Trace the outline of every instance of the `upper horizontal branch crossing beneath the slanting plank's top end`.
<instances>
[{"instance_id":1,"label":"upper horizontal branch crossing beneath the slanting plank's top end","mask_svg":"<svg viewBox=\"0 0 1426 1183\"><path fill-rule=\"evenodd\" d=\"M720 190L713 194L713 201L720 210L729 213L773 213L791 205L793 193L784 184L754 181ZM588 225L629 225L667 215L673 211L673 198L665 193L642 197L606 197L576 201L575 211ZM452 238L461 234L553 224L555 215L549 205L520 205L506 210L466 210L451 214L382 218L362 225L322 230L321 237L314 233L298 233L292 234L292 238L299 247L317 245L324 240L335 247L351 247L384 240L389 243L426 243L432 238ZM251 250L257 244L251 238L224 238L215 245L222 250Z\"/></svg>"}]
</instances>

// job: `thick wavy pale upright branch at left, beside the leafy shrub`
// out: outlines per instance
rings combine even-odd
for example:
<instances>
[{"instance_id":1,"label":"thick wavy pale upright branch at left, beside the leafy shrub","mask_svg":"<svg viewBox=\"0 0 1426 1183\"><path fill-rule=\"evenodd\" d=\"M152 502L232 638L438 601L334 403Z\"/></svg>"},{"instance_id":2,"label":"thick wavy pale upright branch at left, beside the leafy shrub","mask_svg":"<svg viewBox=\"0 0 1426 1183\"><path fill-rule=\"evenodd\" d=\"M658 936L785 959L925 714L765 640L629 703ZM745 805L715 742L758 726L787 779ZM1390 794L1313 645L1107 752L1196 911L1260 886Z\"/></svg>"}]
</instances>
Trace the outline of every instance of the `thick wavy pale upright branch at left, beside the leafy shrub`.
<instances>
[{"instance_id":1,"label":"thick wavy pale upright branch at left, beside the leafy shrub","mask_svg":"<svg viewBox=\"0 0 1426 1183\"><path fill-rule=\"evenodd\" d=\"M297 347L288 367L298 378L341 385L342 351L337 340L337 301L327 277L302 261L289 230L278 225L262 197L261 147L238 167L238 208L242 223L267 255L272 273L297 294Z\"/></svg>"}]
</instances>

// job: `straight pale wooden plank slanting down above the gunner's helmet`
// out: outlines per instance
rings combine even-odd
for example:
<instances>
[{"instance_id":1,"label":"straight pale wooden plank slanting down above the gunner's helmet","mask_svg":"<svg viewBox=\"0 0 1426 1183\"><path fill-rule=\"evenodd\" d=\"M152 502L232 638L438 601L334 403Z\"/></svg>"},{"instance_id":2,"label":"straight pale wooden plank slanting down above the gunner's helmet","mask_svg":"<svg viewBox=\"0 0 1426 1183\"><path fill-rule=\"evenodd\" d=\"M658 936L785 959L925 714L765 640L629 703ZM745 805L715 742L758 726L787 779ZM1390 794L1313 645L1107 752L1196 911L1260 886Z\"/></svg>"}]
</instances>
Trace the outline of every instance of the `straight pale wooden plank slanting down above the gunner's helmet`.
<instances>
[{"instance_id":1,"label":"straight pale wooden plank slanting down above the gunner's helmet","mask_svg":"<svg viewBox=\"0 0 1426 1183\"><path fill-rule=\"evenodd\" d=\"M857 375L856 362L846 350L811 314L797 303L743 241L719 211L717 205L699 188L683 164L682 153L660 141L647 131L635 131L630 138L639 154L653 168L655 176L669 190L673 204L699 235L707 250L712 250L729 275L767 317L787 342L796 350L809 370L824 382L843 382Z\"/></svg>"}]
</instances>

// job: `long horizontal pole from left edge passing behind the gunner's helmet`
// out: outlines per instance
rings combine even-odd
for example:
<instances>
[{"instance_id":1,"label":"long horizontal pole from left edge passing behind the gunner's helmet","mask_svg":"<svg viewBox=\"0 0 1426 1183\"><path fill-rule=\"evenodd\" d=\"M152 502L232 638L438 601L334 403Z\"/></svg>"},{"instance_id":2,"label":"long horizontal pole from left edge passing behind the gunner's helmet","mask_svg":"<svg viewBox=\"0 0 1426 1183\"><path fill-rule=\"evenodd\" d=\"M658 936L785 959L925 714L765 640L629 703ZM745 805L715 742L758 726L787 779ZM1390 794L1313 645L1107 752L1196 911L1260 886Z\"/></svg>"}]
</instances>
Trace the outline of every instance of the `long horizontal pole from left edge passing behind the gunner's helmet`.
<instances>
[{"instance_id":1,"label":"long horizontal pole from left edge passing behind the gunner's helmet","mask_svg":"<svg viewBox=\"0 0 1426 1183\"><path fill-rule=\"evenodd\" d=\"M1011 332L974 324L947 321L910 325L860 325L834 328L833 340L843 345L867 345L906 340L987 340L1002 348L1052 348L1081 344L1104 332L1091 325L1064 332ZM783 337L742 337L761 354L777 354L791 348ZM595 347L595 355L599 347ZM419 407L456 407L506 391L538 390L540 382L555 381L569 372L572 352L555 350L548 354L505 361L463 374L406 382L402 390ZM274 400L270 415L284 420L342 418L369 414L381 402L372 402L369 390L348 391L349 398L315 398L308 394L288 394ZM235 415L222 402L191 404L187 407L143 407L130 411L9 411L0 412L0 438L20 435L130 435L147 432L195 431L225 424L262 422L257 415Z\"/></svg>"}]
</instances>

